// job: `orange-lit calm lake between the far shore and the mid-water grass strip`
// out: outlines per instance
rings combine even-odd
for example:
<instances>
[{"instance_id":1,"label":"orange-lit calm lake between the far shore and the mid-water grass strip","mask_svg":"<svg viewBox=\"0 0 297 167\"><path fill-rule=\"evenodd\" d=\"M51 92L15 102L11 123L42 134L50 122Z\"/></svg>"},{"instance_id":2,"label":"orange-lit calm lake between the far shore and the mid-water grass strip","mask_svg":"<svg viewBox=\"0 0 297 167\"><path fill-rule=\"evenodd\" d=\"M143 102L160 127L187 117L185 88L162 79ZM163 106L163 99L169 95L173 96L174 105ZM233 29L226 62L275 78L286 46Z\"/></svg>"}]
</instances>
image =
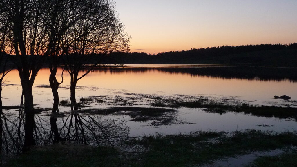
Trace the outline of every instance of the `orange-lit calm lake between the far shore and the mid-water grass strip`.
<instances>
[{"instance_id":1,"label":"orange-lit calm lake between the far shore and the mid-water grass strip","mask_svg":"<svg viewBox=\"0 0 297 167\"><path fill-rule=\"evenodd\" d=\"M226 70L227 69L227 70ZM263 71L266 70L266 71ZM251 73L247 73L250 70ZM59 69L58 73L61 73ZM254 72L255 71L255 72ZM293 104L297 100L297 68L233 67L223 65L140 64L124 68L98 69L78 81L76 96L96 96L114 93L184 94L208 97L233 97L248 103L265 105ZM266 74L272 73L272 74ZM284 74L283 77L279 75ZM286 77L287 75L287 77ZM34 103L52 107L48 85L49 70L42 69L33 86ZM17 105L21 86L17 70L7 75L3 89L3 103ZM59 89L60 99L69 98L69 75ZM274 99L274 95L288 95L289 101ZM293 103L292 103L293 102Z\"/></svg>"}]
</instances>

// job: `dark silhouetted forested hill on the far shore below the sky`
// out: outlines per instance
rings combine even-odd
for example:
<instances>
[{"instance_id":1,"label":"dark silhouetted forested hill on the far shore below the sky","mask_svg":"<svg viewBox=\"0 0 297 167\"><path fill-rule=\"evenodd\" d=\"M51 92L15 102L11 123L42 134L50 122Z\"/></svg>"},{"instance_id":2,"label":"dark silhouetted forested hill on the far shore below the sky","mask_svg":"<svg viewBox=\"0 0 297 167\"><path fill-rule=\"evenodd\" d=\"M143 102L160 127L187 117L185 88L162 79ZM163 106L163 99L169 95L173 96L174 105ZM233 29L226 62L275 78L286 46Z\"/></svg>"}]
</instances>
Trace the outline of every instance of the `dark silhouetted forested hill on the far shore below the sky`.
<instances>
[{"instance_id":1,"label":"dark silhouetted forested hill on the far shore below the sky","mask_svg":"<svg viewBox=\"0 0 297 167\"><path fill-rule=\"evenodd\" d=\"M255 64L296 66L297 43L192 48L158 54L111 53L106 64Z\"/></svg>"}]
</instances>

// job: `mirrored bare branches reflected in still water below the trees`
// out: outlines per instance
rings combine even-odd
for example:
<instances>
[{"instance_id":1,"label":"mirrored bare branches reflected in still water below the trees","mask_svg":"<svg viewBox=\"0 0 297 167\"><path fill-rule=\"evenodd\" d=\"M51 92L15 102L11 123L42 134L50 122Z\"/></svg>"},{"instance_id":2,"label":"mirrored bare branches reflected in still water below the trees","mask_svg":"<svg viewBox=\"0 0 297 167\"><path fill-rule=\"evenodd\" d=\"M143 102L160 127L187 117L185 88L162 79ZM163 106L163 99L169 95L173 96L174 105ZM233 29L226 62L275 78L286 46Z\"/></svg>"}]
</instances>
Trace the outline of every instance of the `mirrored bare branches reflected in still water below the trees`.
<instances>
[{"instance_id":1,"label":"mirrored bare branches reflected in still water below the trees","mask_svg":"<svg viewBox=\"0 0 297 167\"><path fill-rule=\"evenodd\" d=\"M1 154L20 153L25 148L25 127L31 126L26 124L26 116L22 108L16 112L1 112ZM124 119L108 119L100 115L72 113L61 118L54 114L50 117L35 114L33 122L33 127L29 127L33 128L31 142L37 146L64 141L93 146L115 145L129 136Z\"/></svg>"}]
</instances>

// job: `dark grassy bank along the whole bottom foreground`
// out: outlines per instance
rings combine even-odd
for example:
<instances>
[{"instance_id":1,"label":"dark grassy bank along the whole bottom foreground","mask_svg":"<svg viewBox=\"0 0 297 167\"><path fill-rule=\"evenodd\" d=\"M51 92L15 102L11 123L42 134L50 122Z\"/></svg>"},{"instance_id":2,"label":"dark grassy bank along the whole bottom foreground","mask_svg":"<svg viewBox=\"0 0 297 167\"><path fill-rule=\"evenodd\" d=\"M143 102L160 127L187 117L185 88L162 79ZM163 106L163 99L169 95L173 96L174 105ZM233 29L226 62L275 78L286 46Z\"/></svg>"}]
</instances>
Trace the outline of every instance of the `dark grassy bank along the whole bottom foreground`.
<instances>
[{"instance_id":1,"label":"dark grassy bank along the whole bottom foreground","mask_svg":"<svg viewBox=\"0 0 297 167\"><path fill-rule=\"evenodd\" d=\"M277 156L258 157L242 166L296 166L297 133L196 132L129 138L118 146L92 147L60 143L32 147L6 158L4 166L219 166L227 160L255 151L282 149Z\"/></svg>"}]
</instances>

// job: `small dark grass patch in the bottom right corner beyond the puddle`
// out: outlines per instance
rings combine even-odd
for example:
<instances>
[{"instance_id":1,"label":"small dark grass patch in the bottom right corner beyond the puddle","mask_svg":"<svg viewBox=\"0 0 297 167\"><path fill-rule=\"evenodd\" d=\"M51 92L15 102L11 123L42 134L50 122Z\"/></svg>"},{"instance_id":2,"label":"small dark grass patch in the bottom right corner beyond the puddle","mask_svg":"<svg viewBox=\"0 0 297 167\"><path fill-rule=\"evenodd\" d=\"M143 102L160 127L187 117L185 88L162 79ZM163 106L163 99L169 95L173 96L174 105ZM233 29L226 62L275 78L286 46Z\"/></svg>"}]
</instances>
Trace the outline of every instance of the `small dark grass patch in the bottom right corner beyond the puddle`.
<instances>
[{"instance_id":1,"label":"small dark grass patch in the bottom right corner beyond the puddle","mask_svg":"<svg viewBox=\"0 0 297 167\"><path fill-rule=\"evenodd\" d=\"M279 156L258 157L252 164L246 167L292 167L297 164L297 150Z\"/></svg>"}]
</instances>

